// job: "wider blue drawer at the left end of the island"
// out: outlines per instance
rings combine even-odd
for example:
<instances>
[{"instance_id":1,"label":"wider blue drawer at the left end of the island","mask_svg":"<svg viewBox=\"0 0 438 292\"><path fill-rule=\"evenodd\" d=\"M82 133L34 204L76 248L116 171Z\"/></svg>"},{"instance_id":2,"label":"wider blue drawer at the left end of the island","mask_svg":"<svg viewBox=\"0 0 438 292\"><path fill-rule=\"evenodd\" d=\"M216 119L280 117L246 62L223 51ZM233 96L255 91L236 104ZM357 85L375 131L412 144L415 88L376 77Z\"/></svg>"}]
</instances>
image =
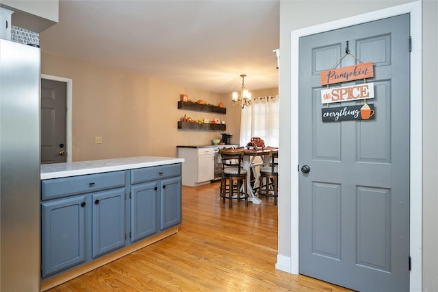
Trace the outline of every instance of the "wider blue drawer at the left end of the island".
<instances>
[{"instance_id":1,"label":"wider blue drawer at the left end of the island","mask_svg":"<svg viewBox=\"0 0 438 292\"><path fill-rule=\"evenodd\" d=\"M125 171L42 180L41 199L53 199L77 195L79 193L101 191L107 188L123 187L125 184Z\"/></svg>"}]
</instances>

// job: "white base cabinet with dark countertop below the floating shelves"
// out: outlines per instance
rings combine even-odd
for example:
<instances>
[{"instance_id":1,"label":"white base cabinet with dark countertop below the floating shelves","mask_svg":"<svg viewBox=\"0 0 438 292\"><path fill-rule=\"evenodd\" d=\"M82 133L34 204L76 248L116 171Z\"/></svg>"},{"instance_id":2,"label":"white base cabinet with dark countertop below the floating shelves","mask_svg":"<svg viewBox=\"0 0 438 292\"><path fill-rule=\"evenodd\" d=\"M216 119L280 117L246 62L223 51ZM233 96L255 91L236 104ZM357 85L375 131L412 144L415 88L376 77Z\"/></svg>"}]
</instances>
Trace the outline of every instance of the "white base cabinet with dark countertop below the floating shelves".
<instances>
[{"instance_id":1,"label":"white base cabinet with dark countertop below the floating shelves","mask_svg":"<svg viewBox=\"0 0 438 292\"><path fill-rule=\"evenodd\" d=\"M201 186L214 180L214 147L178 147L178 157L184 158L184 186Z\"/></svg>"}]
</instances>

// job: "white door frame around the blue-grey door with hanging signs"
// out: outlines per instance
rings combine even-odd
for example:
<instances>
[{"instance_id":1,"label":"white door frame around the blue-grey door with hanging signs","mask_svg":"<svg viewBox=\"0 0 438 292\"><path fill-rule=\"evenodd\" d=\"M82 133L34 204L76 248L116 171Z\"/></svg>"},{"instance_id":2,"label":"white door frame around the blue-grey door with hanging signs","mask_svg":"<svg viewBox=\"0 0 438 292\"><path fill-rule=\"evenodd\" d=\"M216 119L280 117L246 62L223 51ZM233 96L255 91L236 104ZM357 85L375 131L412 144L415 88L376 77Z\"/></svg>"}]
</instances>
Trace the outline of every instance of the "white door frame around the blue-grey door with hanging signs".
<instances>
[{"instance_id":1,"label":"white door frame around the blue-grey door with hanging signs","mask_svg":"<svg viewBox=\"0 0 438 292\"><path fill-rule=\"evenodd\" d=\"M412 260L410 273L410 290L422 291L422 1L397 5L383 10L368 12L359 16L339 19L312 27L305 27L291 32L291 261L290 272L299 271L299 223L298 223L298 178L296 171L298 160L298 62L299 39L302 36L341 29L370 21L386 19L400 14L410 14L411 50L411 102L410 102L410 235L409 249ZM415 99L415 97L420 97Z\"/></svg>"}]
</instances>

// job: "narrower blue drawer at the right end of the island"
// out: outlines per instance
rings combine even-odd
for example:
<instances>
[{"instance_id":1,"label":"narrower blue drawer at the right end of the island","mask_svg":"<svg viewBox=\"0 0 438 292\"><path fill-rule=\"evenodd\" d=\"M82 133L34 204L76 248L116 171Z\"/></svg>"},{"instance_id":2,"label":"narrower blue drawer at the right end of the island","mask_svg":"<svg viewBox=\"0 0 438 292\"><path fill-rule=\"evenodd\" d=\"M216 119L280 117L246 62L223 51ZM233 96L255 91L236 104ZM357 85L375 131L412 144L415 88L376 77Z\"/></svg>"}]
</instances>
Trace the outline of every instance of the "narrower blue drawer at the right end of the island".
<instances>
[{"instance_id":1,"label":"narrower blue drawer at the right end of the island","mask_svg":"<svg viewBox=\"0 0 438 292\"><path fill-rule=\"evenodd\" d=\"M181 175L181 163L175 165L162 165L159 167L144 167L131 170L131 184L148 182Z\"/></svg>"}]
</instances>

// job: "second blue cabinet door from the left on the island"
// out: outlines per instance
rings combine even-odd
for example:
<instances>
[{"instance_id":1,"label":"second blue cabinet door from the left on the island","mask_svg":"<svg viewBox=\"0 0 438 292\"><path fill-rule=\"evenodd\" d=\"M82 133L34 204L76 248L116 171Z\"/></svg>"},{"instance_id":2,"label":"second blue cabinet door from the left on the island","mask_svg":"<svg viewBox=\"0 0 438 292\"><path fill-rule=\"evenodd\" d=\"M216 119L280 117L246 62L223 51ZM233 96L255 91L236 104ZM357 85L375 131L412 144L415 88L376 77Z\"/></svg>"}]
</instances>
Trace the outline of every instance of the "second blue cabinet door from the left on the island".
<instances>
[{"instance_id":1,"label":"second blue cabinet door from the left on the island","mask_svg":"<svg viewBox=\"0 0 438 292\"><path fill-rule=\"evenodd\" d=\"M92 257L125 246L125 188L92 194Z\"/></svg>"}]
</instances>

